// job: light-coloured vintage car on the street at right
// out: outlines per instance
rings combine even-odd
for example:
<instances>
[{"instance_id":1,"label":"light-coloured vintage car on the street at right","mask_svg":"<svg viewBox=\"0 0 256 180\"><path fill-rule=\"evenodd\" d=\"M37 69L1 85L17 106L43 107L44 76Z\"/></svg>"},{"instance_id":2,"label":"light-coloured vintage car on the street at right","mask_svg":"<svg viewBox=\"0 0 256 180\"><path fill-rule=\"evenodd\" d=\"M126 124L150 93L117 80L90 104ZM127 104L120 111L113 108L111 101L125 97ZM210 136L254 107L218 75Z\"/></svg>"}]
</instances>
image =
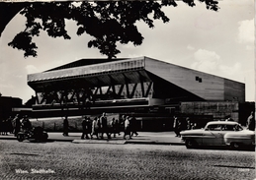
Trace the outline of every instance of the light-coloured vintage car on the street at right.
<instances>
[{"instance_id":1,"label":"light-coloured vintage car on the street at right","mask_svg":"<svg viewBox=\"0 0 256 180\"><path fill-rule=\"evenodd\" d=\"M239 149L255 145L255 133L231 121L212 121L204 129L182 131L181 136L187 149L197 146L229 146Z\"/></svg>"}]
</instances>

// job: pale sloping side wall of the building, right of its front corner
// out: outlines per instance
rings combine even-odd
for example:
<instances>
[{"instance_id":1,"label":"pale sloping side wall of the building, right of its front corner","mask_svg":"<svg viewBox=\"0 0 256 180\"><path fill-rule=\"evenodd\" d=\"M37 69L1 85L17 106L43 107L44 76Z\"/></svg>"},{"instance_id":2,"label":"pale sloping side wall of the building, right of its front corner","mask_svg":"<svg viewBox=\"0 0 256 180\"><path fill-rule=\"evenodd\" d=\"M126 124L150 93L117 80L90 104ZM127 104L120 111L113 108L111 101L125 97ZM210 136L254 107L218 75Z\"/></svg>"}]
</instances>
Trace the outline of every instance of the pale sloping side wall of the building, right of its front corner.
<instances>
[{"instance_id":1,"label":"pale sloping side wall of the building, right of its front corner","mask_svg":"<svg viewBox=\"0 0 256 180\"><path fill-rule=\"evenodd\" d=\"M231 100L231 97L237 96L239 101L244 102L245 88L244 84L239 82L226 80L207 73L202 73L147 57L145 57L145 69L206 100Z\"/></svg>"}]
</instances>

